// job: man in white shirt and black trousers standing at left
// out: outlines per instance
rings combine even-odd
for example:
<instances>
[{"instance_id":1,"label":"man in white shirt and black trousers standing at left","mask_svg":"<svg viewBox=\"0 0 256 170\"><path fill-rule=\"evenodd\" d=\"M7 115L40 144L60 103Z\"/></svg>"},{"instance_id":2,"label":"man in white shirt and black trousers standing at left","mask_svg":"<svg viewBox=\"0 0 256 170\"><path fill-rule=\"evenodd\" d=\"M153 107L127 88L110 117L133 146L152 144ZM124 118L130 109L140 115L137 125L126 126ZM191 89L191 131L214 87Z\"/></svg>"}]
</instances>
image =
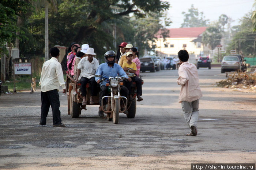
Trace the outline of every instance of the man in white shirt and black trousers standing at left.
<instances>
[{"instance_id":1,"label":"man in white shirt and black trousers standing at left","mask_svg":"<svg viewBox=\"0 0 256 170\"><path fill-rule=\"evenodd\" d=\"M41 85L41 120L40 125L46 125L46 117L50 106L52 107L53 127L65 127L60 118L59 88L66 94L66 86L63 78L61 64L58 62L60 50L56 47L50 49L50 60L43 64L39 86Z\"/></svg>"}]
</instances>

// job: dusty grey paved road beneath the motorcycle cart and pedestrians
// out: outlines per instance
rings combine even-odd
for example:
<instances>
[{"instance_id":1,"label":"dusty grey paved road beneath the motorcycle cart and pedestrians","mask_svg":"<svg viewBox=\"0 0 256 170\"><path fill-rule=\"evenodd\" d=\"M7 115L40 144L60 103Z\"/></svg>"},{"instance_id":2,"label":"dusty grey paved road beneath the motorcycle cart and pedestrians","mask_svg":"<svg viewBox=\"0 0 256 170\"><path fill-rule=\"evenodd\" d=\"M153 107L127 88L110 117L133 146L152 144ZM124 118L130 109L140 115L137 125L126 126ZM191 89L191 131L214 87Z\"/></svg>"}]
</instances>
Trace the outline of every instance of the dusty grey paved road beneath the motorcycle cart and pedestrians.
<instances>
[{"instance_id":1,"label":"dusty grey paved road beneath the motorcycle cart and pedestrians","mask_svg":"<svg viewBox=\"0 0 256 170\"><path fill-rule=\"evenodd\" d=\"M99 118L88 106L79 118L67 115L67 127L39 126L40 92L0 97L0 169L190 169L190 163L256 162L255 91L219 88L220 68L200 68L203 97L197 137L178 103L177 70L142 74L143 101L134 119L120 114L118 124ZM239 162L240 161L240 162Z\"/></svg>"}]
</instances>

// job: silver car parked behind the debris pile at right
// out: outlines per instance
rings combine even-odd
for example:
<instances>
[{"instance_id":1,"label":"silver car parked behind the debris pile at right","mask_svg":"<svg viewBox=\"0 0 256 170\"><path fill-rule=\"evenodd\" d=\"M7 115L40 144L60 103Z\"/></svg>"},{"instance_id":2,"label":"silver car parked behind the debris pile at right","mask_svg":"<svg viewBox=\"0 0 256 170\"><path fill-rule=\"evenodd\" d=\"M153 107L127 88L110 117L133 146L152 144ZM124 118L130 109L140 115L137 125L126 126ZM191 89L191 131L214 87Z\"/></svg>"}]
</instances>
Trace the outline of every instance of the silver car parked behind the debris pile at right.
<instances>
[{"instance_id":1,"label":"silver car parked behind the debris pile at right","mask_svg":"<svg viewBox=\"0 0 256 170\"><path fill-rule=\"evenodd\" d=\"M241 70L239 58L237 56L225 56L221 62L221 73L236 70Z\"/></svg>"}]
</instances>

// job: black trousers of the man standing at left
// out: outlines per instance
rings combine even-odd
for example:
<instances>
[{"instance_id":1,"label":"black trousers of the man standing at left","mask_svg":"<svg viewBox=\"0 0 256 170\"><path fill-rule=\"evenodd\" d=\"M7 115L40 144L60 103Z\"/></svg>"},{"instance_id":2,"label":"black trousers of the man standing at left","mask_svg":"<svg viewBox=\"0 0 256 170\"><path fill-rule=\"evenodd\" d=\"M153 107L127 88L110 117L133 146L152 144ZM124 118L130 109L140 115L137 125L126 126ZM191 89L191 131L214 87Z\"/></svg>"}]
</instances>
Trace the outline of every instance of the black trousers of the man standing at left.
<instances>
[{"instance_id":1,"label":"black trousers of the man standing at left","mask_svg":"<svg viewBox=\"0 0 256 170\"><path fill-rule=\"evenodd\" d=\"M41 120L40 123L42 125L46 124L46 117L49 112L50 106L52 107L52 118L53 118L53 125L61 124L60 118L60 96L57 91L50 90L46 92L41 92Z\"/></svg>"}]
</instances>

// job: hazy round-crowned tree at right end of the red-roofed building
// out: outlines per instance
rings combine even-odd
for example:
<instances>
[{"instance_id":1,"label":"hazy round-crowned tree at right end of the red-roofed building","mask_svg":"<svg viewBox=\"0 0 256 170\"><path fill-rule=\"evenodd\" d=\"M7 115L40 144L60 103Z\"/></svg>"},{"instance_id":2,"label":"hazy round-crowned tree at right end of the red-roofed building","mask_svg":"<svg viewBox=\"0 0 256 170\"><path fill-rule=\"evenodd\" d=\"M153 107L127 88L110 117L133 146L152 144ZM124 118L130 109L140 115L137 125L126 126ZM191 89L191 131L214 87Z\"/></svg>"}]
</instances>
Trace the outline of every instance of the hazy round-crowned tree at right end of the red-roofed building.
<instances>
[{"instance_id":1,"label":"hazy round-crowned tree at right end of the red-roofed building","mask_svg":"<svg viewBox=\"0 0 256 170\"><path fill-rule=\"evenodd\" d=\"M211 50L214 50L221 42L221 32L216 27L208 27L203 33L202 41L204 44L208 45Z\"/></svg>"}]
</instances>

